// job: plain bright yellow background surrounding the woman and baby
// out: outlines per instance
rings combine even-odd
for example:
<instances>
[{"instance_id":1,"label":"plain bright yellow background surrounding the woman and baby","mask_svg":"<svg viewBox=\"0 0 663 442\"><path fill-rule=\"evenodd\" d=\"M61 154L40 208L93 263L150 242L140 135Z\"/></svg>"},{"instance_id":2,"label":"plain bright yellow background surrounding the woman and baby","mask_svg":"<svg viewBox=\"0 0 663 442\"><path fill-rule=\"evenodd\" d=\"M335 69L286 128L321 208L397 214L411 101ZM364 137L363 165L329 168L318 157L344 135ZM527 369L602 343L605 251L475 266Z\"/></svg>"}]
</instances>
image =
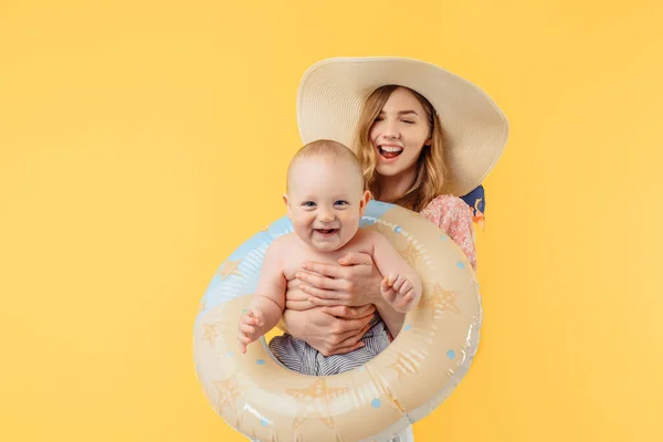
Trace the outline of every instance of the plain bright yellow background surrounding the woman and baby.
<instances>
[{"instance_id":1,"label":"plain bright yellow background surrounding the woman and baby","mask_svg":"<svg viewBox=\"0 0 663 442\"><path fill-rule=\"evenodd\" d=\"M298 81L338 55L440 64L512 125L480 351L417 442L663 440L663 7L534 3L3 1L0 440L243 441L193 318L284 214Z\"/></svg>"}]
</instances>

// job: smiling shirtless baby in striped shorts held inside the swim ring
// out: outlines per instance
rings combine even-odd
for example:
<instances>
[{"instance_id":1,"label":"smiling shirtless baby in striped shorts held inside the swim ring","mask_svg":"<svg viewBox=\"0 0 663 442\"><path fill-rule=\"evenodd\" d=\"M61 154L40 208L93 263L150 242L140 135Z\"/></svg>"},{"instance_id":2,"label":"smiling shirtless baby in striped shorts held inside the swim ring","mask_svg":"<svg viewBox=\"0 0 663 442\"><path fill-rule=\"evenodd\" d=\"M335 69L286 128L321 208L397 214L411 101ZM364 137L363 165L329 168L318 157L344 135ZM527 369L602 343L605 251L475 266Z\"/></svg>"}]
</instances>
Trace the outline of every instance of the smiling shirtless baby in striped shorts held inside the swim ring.
<instances>
[{"instance_id":1,"label":"smiling shirtless baby in striped shorts held inside the swim ring","mask_svg":"<svg viewBox=\"0 0 663 442\"><path fill-rule=\"evenodd\" d=\"M294 233L274 240L265 253L255 294L240 318L242 352L278 323L286 291L296 290L291 288L298 286L293 281L306 261L336 263L348 252L370 254L383 276L382 296L393 309L404 313L417 306L422 291L417 273L383 235L359 228L369 199L359 161L344 145L317 140L297 151L287 170L283 197ZM379 315L369 326L364 347L345 355L324 356L288 334L272 339L270 349L292 370L336 375L361 366L389 345Z\"/></svg>"}]
</instances>

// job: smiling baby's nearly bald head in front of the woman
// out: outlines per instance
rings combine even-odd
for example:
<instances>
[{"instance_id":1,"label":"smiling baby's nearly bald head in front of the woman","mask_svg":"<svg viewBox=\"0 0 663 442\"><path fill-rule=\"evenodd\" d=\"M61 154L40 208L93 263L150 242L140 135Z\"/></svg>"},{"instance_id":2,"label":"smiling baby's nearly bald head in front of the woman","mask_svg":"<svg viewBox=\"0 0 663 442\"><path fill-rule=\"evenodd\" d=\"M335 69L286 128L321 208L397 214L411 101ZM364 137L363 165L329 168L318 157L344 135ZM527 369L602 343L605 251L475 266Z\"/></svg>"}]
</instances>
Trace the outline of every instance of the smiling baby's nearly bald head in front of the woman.
<instances>
[{"instance_id":1,"label":"smiling baby's nearly bald head in front of the woman","mask_svg":"<svg viewBox=\"0 0 663 442\"><path fill-rule=\"evenodd\" d=\"M359 160L340 143L322 139L301 148L287 169L287 215L311 248L333 252L359 229L370 193Z\"/></svg>"}]
</instances>

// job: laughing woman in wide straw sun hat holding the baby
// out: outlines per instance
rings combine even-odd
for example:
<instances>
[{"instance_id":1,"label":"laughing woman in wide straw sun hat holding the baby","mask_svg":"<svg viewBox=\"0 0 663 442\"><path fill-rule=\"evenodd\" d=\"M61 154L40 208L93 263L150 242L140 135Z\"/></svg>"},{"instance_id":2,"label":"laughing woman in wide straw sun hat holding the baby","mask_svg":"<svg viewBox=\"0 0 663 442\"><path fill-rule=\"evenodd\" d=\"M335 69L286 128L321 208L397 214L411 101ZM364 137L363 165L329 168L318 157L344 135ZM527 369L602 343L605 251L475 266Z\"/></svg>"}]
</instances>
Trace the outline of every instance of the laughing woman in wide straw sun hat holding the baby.
<instances>
[{"instance_id":1,"label":"laughing woman in wide straw sun hat holding the baby","mask_svg":"<svg viewBox=\"0 0 663 442\"><path fill-rule=\"evenodd\" d=\"M305 143L351 146L375 199L420 212L476 266L473 211L454 194L483 190L506 144L506 117L485 93L415 60L330 59L306 72L297 105ZM380 281L367 255L347 255L339 265L305 263L291 284L306 295L286 299L288 333L324 355L360 347L376 308L402 320L382 299Z\"/></svg>"}]
</instances>

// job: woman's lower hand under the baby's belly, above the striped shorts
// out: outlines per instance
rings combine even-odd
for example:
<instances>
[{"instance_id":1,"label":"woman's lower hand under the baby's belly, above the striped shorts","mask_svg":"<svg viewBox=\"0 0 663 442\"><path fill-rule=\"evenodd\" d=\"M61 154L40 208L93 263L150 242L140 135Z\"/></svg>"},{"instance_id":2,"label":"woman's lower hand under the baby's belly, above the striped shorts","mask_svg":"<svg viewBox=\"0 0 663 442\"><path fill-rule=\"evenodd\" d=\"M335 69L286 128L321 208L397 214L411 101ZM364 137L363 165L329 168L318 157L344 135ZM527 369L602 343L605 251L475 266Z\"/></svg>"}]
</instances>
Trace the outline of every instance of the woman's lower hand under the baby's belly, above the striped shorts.
<instances>
[{"instance_id":1,"label":"woman's lower hand under the baby's belly, above the striped shorts","mask_svg":"<svg viewBox=\"0 0 663 442\"><path fill-rule=\"evenodd\" d=\"M360 339L370 328L375 311L373 305L316 307L304 312L286 308L283 322L291 335L305 340L324 356L330 356L364 347Z\"/></svg>"}]
</instances>

